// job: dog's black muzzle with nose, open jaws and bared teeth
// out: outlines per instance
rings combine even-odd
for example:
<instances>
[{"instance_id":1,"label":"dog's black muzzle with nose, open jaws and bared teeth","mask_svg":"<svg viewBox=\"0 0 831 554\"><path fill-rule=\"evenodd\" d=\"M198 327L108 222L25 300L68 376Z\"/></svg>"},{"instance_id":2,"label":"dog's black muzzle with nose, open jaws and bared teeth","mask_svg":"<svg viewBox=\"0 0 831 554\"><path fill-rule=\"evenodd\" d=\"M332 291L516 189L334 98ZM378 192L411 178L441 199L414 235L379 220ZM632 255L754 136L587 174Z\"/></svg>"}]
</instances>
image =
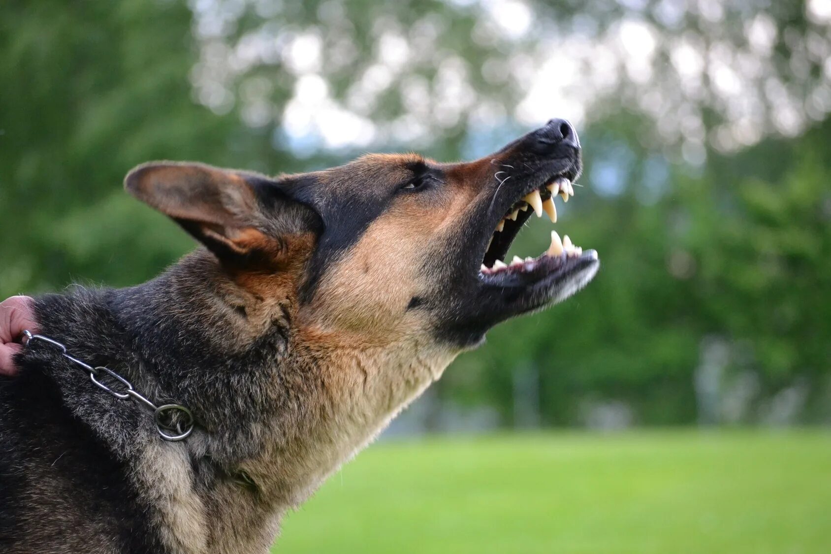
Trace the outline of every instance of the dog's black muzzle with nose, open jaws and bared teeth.
<instances>
[{"instance_id":1,"label":"dog's black muzzle with nose, open jaws and bared teeth","mask_svg":"<svg viewBox=\"0 0 831 554\"><path fill-rule=\"evenodd\" d=\"M557 232L537 257L505 260L532 214L548 215L556 223L558 203L574 195L573 181L583 162L577 132L568 121L552 119L462 169L476 176L479 190L476 201L469 203L467 225L451 233L453 251L464 261L447 271L464 288L447 287L450 303L442 309L449 316L441 333L479 344L494 324L576 294L597 275L600 260L596 251L584 251Z\"/></svg>"}]
</instances>

